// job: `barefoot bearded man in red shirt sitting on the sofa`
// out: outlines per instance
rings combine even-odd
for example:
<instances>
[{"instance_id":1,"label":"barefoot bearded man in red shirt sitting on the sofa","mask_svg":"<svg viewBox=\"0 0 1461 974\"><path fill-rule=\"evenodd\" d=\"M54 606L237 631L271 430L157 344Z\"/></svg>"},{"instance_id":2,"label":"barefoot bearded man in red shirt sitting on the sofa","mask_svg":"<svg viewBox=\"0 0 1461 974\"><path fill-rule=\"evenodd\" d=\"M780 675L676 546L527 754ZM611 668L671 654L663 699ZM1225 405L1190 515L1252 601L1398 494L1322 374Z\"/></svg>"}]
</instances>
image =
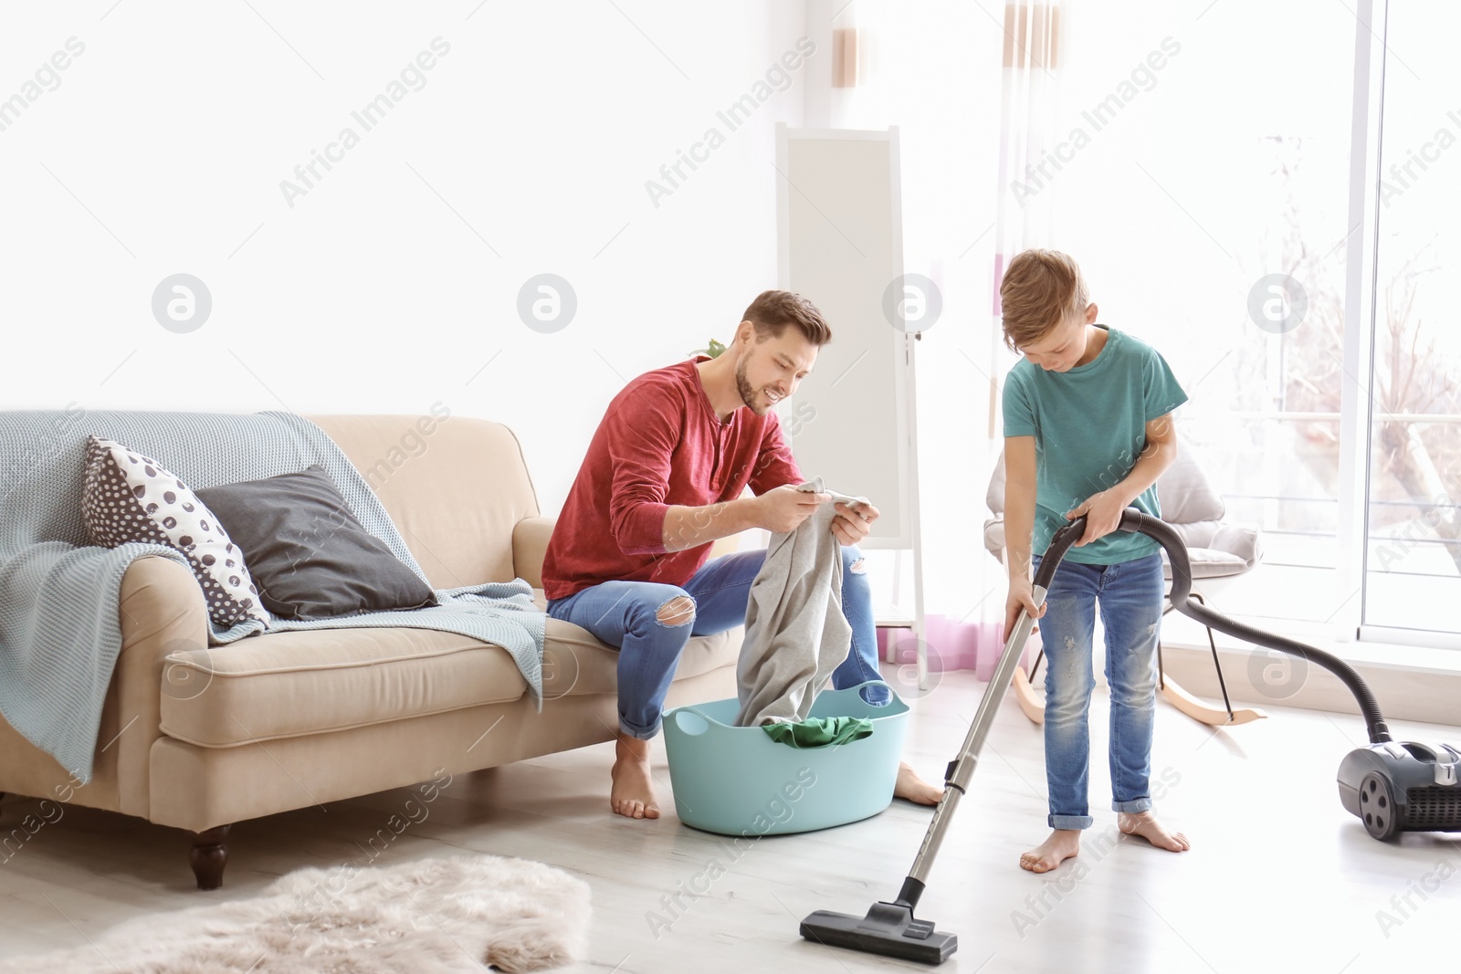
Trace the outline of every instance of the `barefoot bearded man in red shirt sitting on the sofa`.
<instances>
[{"instance_id":1,"label":"barefoot bearded man in red shirt sitting on the sofa","mask_svg":"<svg viewBox=\"0 0 1461 974\"><path fill-rule=\"evenodd\" d=\"M609 403L548 542L548 613L619 648L619 733L609 803L628 818L659 818L649 742L691 635L745 622L764 551L706 564L710 545L751 527L792 532L827 494L796 489L801 470L771 407L811 371L831 329L805 298L767 291L745 310L720 356L640 375ZM755 496L741 496L749 486ZM871 504L837 504L844 546L847 659L833 686L881 679L872 593L856 543L878 517ZM906 764L896 794L934 805L939 789Z\"/></svg>"}]
</instances>

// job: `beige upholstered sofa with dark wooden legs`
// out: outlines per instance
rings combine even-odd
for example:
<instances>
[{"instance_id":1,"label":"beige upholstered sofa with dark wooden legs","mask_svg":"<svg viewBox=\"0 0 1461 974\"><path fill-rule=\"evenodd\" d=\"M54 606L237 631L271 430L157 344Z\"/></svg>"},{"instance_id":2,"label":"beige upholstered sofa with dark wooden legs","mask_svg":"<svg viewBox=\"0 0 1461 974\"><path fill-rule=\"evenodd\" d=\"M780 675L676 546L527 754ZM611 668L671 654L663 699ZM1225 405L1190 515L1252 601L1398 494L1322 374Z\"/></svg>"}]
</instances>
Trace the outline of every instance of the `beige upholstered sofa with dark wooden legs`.
<instances>
[{"instance_id":1,"label":"beige upholstered sofa with dark wooden legs","mask_svg":"<svg viewBox=\"0 0 1461 974\"><path fill-rule=\"evenodd\" d=\"M520 577L541 588L552 520L539 517L507 426L311 419L367 476L435 587ZM618 656L557 619L538 713L506 650L450 632L323 629L209 647L202 590L164 558L133 562L118 612L92 781L77 786L0 721L0 791L188 829L203 889L222 883L232 822L581 748L618 727ZM669 705L735 695L739 638L693 638ZM608 813L608 768L584 789L605 794Z\"/></svg>"}]
</instances>

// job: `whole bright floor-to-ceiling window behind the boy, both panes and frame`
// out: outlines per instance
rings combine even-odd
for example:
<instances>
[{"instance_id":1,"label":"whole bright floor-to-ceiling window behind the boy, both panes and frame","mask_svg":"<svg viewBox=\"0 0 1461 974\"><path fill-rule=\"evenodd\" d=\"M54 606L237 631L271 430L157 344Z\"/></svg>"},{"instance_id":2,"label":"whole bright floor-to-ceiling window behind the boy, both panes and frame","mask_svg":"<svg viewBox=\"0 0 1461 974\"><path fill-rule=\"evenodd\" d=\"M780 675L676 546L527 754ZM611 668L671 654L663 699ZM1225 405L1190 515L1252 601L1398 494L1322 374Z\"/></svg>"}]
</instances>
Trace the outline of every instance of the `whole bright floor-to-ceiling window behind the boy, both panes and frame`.
<instances>
[{"instance_id":1,"label":"whole bright floor-to-ceiling window behind the boy, both panes and frame","mask_svg":"<svg viewBox=\"0 0 1461 974\"><path fill-rule=\"evenodd\" d=\"M1075 7L1068 145L1020 191L1053 196L1049 244L1172 364L1182 435L1229 520L1262 530L1224 610L1461 644L1461 7L1388 6ZM1359 275L1373 314L1369 291L1347 307Z\"/></svg>"}]
</instances>

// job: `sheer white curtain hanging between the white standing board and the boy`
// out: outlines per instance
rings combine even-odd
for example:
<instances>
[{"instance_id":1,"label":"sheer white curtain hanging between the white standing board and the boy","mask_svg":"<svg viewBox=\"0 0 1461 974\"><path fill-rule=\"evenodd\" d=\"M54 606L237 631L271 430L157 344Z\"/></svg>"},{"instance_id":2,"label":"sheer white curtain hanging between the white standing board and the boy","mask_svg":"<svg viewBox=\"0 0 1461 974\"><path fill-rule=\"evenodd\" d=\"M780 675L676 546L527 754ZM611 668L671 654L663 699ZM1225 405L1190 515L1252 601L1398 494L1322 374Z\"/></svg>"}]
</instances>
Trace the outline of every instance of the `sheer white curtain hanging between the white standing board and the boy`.
<instances>
[{"instance_id":1,"label":"sheer white curtain hanging between the white standing board and the boy","mask_svg":"<svg viewBox=\"0 0 1461 974\"><path fill-rule=\"evenodd\" d=\"M817 16L818 4L811 10ZM825 118L809 115L808 124L899 127L904 266L932 279L944 301L942 317L918 343L925 609L935 669L970 666L976 641L998 653L992 628L1002 616L1005 580L983 548L985 491L1001 445L999 383L1014 362L999 339L998 279L1010 256L1050 242L1052 194L1034 187L1014 194L1011 184L1017 177L1029 183L1027 166L1037 172L1056 142L1068 10L1068 3L855 0L823 15L831 16L831 31L858 32L858 70L843 76L852 85L831 89ZM890 558L874 558L875 591L884 597L893 588ZM900 581L899 607L907 609L906 564ZM899 683L906 691L910 680Z\"/></svg>"}]
</instances>

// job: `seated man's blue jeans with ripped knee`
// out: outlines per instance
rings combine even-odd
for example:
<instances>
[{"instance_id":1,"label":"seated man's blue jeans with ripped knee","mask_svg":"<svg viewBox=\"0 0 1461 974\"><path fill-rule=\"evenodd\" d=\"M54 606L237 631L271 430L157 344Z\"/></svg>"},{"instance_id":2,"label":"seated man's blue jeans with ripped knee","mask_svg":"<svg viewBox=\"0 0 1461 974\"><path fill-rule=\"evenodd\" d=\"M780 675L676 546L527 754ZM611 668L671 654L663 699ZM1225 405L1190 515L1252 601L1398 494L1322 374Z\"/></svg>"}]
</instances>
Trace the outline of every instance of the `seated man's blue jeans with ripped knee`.
<instances>
[{"instance_id":1,"label":"seated man's blue jeans with ripped knee","mask_svg":"<svg viewBox=\"0 0 1461 974\"><path fill-rule=\"evenodd\" d=\"M853 562L856 548L842 549L842 610L852 625L847 659L831 675L837 689L882 679L878 638L872 622L872 586ZM693 635L713 635L745 622L751 583L766 562L764 551L735 552L706 562L690 581L605 581L548 603L548 615L583 626L600 643L619 650L619 730L647 740L659 733L665 694L675 678L679 653ZM659 609L679 596L694 602L694 618L679 625L659 621ZM674 618L674 616L672 616ZM868 694L869 702L880 702ZM882 698L885 699L885 691Z\"/></svg>"}]
</instances>

